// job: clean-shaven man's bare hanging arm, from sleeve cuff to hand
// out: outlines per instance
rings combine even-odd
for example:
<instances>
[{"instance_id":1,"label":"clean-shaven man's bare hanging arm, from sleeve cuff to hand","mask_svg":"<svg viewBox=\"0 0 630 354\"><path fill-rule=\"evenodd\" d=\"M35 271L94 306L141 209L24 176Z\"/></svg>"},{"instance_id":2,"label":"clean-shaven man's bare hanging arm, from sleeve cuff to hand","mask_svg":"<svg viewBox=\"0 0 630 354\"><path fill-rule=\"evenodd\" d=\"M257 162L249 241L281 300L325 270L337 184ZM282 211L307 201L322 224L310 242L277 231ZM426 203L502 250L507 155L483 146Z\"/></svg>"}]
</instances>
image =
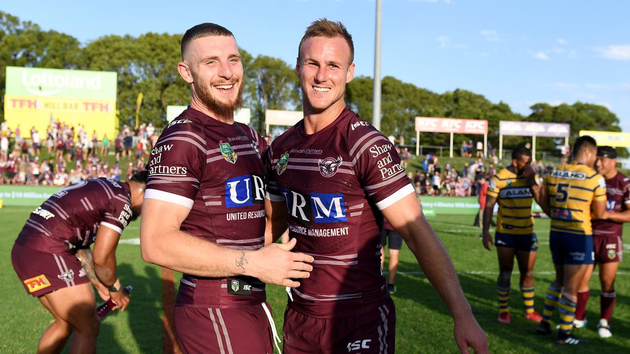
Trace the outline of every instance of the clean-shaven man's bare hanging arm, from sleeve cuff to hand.
<instances>
[{"instance_id":1,"label":"clean-shaven man's bare hanging arm, from sleeve cuff to hand","mask_svg":"<svg viewBox=\"0 0 630 354\"><path fill-rule=\"evenodd\" d=\"M488 337L474 318L449 254L422 214L416 194L406 195L384 208L382 213L403 237L420 268L449 308L455 322L455 342L461 353L468 353L469 347L475 353L488 353Z\"/></svg>"}]
</instances>

